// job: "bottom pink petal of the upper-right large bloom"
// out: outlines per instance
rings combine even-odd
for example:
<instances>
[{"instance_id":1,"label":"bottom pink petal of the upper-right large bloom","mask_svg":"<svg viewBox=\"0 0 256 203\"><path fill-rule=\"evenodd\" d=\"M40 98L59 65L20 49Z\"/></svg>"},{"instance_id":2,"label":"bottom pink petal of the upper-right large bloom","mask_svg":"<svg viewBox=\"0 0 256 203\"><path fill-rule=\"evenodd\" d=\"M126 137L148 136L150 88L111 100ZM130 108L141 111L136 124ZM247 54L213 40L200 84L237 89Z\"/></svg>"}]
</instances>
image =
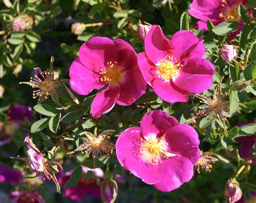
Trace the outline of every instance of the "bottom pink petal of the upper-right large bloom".
<instances>
[{"instance_id":1,"label":"bottom pink petal of the upper-right large bloom","mask_svg":"<svg viewBox=\"0 0 256 203\"><path fill-rule=\"evenodd\" d=\"M189 93L185 90L181 90L172 81L164 82L157 78L154 80L153 89L158 97L169 103L186 102L188 100Z\"/></svg>"}]
</instances>

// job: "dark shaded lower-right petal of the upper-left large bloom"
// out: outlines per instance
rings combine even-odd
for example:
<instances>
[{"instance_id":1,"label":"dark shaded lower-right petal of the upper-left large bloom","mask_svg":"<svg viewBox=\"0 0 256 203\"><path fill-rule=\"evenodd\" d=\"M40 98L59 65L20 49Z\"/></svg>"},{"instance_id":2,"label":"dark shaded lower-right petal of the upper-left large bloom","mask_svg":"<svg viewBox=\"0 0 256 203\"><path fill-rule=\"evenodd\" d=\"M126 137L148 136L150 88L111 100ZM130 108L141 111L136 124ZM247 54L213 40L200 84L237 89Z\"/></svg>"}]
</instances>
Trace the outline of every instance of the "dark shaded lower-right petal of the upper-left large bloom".
<instances>
[{"instance_id":1,"label":"dark shaded lower-right petal of the upper-left large bloom","mask_svg":"<svg viewBox=\"0 0 256 203\"><path fill-rule=\"evenodd\" d=\"M123 72L124 79L120 82L121 93L117 104L126 106L136 101L147 90L147 84L139 70Z\"/></svg>"}]
</instances>

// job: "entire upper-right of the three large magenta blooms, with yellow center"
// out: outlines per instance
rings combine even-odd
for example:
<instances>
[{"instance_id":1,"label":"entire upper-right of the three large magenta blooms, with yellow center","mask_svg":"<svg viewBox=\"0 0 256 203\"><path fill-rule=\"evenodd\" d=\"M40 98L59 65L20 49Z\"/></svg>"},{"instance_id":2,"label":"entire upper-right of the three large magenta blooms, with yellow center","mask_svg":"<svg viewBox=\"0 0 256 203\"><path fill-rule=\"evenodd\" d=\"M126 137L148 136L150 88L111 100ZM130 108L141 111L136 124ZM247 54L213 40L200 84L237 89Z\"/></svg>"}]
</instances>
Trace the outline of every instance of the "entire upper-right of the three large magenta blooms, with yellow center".
<instances>
[{"instance_id":1,"label":"entire upper-right of the three large magenta blooms, with yellow center","mask_svg":"<svg viewBox=\"0 0 256 203\"><path fill-rule=\"evenodd\" d=\"M167 39L153 25L145 38L145 52L138 63L146 82L163 100L185 102L190 93L201 93L212 85L214 67L204 58L203 40L190 31L178 31Z\"/></svg>"}]
</instances>

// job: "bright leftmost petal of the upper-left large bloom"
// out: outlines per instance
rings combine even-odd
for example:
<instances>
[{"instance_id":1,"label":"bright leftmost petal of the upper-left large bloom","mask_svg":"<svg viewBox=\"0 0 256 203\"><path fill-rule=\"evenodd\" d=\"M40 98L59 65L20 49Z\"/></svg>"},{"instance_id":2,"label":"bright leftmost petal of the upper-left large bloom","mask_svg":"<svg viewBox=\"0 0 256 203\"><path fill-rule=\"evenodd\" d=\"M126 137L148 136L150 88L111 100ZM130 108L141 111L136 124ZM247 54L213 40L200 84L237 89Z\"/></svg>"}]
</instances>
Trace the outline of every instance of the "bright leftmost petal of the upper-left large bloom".
<instances>
[{"instance_id":1,"label":"bright leftmost petal of the upper-left large bloom","mask_svg":"<svg viewBox=\"0 0 256 203\"><path fill-rule=\"evenodd\" d=\"M78 94L87 95L93 89L104 87L106 82L100 82L99 74L85 67L77 57L69 69L71 89Z\"/></svg>"}]
</instances>

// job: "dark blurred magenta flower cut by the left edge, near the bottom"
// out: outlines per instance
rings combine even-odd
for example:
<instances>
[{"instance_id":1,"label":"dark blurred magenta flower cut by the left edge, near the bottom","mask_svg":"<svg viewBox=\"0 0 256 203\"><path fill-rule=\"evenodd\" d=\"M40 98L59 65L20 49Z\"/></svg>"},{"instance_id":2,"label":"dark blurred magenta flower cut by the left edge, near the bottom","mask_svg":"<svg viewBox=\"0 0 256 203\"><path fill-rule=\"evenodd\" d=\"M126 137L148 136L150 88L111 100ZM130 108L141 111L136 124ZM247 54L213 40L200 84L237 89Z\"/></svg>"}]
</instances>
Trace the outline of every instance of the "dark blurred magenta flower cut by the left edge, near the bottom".
<instances>
[{"instance_id":1,"label":"dark blurred magenta flower cut by the left edge, near the bottom","mask_svg":"<svg viewBox=\"0 0 256 203\"><path fill-rule=\"evenodd\" d=\"M21 182L23 174L21 171L8 166L0 165L0 182L4 184L12 184Z\"/></svg>"}]
</instances>

